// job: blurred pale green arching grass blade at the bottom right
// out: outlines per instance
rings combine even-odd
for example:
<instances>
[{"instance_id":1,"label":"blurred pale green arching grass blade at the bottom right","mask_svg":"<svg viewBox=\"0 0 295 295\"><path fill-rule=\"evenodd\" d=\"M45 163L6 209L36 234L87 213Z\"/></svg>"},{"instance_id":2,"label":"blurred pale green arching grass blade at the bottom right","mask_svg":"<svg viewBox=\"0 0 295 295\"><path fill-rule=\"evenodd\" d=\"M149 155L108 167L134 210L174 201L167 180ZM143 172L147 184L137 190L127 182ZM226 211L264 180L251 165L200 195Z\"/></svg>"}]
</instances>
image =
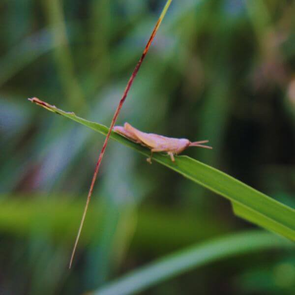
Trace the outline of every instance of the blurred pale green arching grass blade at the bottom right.
<instances>
[{"instance_id":1,"label":"blurred pale green arching grass blade at the bottom right","mask_svg":"<svg viewBox=\"0 0 295 295\"><path fill-rule=\"evenodd\" d=\"M135 269L117 281L98 289L94 295L135 294L210 262L255 251L293 246L294 244L288 240L263 231L228 235L176 252L148 266Z\"/></svg>"}]
</instances>

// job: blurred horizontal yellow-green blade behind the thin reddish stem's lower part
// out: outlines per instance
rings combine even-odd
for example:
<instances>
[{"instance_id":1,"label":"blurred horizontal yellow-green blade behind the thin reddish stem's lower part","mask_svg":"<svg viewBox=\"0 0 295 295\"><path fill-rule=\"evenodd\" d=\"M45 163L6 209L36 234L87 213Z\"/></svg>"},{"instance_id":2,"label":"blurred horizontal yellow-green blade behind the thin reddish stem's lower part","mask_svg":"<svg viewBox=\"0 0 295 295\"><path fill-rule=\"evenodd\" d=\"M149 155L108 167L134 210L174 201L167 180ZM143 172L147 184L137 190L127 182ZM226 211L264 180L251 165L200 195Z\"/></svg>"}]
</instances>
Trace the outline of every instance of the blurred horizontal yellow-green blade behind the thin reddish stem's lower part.
<instances>
[{"instance_id":1,"label":"blurred horizontal yellow-green blade behind the thin reddish stem's lower part","mask_svg":"<svg viewBox=\"0 0 295 295\"><path fill-rule=\"evenodd\" d=\"M102 238L103 231L106 230L104 221L109 216L109 203L105 202L102 195L96 197L97 201L89 208L85 230L81 236L81 243L88 247L90 242L95 243ZM79 201L72 201L77 199ZM75 238L75 229L79 225L81 209L84 208L82 198L64 193L50 194L50 196L0 194L0 200L1 234L23 239L28 236L39 236L42 233L45 236L50 235L58 244L63 240L68 242ZM133 206L126 205L124 208L121 206L119 215L128 213L129 218L130 212L134 210ZM136 231L131 246L136 251L148 251L153 255L174 251L197 241L235 230L235 227L228 222L218 217L212 219L209 212L200 209L194 212L188 209L167 211L165 208L145 205L138 208L136 215L136 221L134 220L132 225L136 226ZM128 226L126 219L118 227L119 235L123 235L122 228ZM117 245L113 254L122 250L118 248L120 247Z\"/></svg>"}]
</instances>

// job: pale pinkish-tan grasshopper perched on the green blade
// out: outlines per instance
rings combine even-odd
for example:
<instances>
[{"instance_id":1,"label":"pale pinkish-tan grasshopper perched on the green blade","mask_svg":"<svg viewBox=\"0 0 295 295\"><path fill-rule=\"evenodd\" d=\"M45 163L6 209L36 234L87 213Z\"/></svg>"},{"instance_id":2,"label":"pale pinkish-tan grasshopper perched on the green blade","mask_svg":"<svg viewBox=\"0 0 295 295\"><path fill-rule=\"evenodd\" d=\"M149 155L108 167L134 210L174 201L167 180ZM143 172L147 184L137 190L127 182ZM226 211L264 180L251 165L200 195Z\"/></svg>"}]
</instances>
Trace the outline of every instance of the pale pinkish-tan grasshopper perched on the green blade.
<instances>
[{"instance_id":1,"label":"pale pinkish-tan grasshopper perched on the green blade","mask_svg":"<svg viewBox=\"0 0 295 295\"><path fill-rule=\"evenodd\" d=\"M208 140L202 140L198 142L191 142L185 138L172 138L163 135L158 135L154 133L142 132L129 123L124 123L124 126L115 126L113 129L116 133L128 138L129 140L141 144L144 147L150 149L150 156L147 158L148 163L151 164L151 158L153 152L166 151L170 156L171 160L175 162L174 155L181 153L184 149L188 147L200 147L200 148L210 148L204 146Z\"/></svg>"}]
</instances>

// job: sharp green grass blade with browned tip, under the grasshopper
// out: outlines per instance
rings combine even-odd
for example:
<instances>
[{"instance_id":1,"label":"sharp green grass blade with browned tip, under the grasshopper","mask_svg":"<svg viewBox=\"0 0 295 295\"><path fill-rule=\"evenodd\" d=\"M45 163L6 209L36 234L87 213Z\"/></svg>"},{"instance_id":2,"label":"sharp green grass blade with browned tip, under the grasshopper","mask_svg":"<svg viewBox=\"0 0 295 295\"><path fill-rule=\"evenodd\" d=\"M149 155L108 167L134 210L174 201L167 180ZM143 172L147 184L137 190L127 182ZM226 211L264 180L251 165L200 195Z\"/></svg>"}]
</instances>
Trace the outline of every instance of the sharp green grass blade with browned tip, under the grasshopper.
<instances>
[{"instance_id":1,"label":"sharp green grass blade with browned tip, under the grasshopper","mask_svg":"<svg viewBox=\"0 0 295 295\"><path fill-rule=\"evenodd\" d=\"M74 113L64 112L37 98L29 100L51 112L70 118L104 135L108 132L106 126L79 118ZM112 132L111 138L129 148L137 150L141 154L150 155L148 148L135 144L115 132ZM184 177L227 198L233 203L234 212L238 216L267 230L295 240L295 209L285 206L234 177L190 157L177 156L175 162L172 162L169 156L154 153L153 161L165 165Z\"/></svg>"}]
</instances>

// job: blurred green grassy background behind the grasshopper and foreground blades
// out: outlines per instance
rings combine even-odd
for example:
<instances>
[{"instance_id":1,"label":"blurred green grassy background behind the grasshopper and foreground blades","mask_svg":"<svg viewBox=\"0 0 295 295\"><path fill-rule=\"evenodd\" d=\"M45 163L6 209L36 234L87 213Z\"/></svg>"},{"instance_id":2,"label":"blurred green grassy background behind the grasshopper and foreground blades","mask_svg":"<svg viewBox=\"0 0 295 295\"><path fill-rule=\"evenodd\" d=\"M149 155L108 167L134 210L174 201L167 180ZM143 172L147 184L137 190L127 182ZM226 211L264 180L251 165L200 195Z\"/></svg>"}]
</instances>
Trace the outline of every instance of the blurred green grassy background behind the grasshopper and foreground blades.
<instances>
[{"instance_id":1,"label":"blurred green grassy background behind the grasshopper and foreground blades","mask_svg":"<svg viewBox=\"0 0 295 295\"><path fill-rule=\"evenodd\" d=\"M136 267L255 228L225 199L103 136L163 0L0 2L0 294L83 294ZM295 207L295 1L175 0L118 118ZM229 245L230 246L230 245ZM143 294L294 294L295 253L225 259Z\"/></svg>"}]
</instances>

